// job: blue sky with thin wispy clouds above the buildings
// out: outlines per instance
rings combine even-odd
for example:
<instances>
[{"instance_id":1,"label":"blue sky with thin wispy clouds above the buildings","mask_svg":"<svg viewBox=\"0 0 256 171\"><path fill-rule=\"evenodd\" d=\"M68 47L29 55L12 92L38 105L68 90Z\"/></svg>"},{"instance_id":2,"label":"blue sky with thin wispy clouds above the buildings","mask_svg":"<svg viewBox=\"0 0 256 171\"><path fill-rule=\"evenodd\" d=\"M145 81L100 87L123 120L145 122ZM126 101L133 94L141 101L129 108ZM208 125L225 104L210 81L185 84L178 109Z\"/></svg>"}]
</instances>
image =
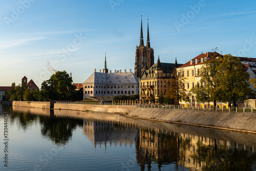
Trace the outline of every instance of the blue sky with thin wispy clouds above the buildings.
<instances>
[{"instance_id":1,"label":"blue sky with thin wispy clouds above the buildings","mask_svg":"<svg viewBox=\"0 0 256 171\"><path fill-rule=\"evenodd\" d=\"M26 76L40 88L55 71L82 83L104 68L132 69L147 18L155 62L201 52L256 58L256 1L1 0L0 86Z\"/></svg>"}]
</instances>

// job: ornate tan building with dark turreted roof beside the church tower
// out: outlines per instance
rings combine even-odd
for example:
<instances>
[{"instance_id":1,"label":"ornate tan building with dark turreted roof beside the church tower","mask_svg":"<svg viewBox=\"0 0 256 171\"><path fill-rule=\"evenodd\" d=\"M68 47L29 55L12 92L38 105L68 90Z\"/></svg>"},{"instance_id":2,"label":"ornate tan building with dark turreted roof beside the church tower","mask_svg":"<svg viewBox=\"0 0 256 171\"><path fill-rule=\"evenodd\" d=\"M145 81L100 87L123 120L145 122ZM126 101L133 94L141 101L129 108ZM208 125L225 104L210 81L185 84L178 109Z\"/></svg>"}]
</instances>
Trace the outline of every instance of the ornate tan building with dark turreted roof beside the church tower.
<instances>
[{"instance_id":1,"label":"ornate tan building with dark turreted roof beside the church tower","mask_svg":"<svg viewBox=\"0 0 256 171\"><path fill-rule=\"evenodd\" d=\"M178 64L177 60L175 63L163 63L160 62L158 57L157 63L148 69L144 70L140 77L140 100L150 100L155 96L159 98L161 94L166 96L168 85L174 78L173 70L182 66Z\"/></svg>"}]
</instances>

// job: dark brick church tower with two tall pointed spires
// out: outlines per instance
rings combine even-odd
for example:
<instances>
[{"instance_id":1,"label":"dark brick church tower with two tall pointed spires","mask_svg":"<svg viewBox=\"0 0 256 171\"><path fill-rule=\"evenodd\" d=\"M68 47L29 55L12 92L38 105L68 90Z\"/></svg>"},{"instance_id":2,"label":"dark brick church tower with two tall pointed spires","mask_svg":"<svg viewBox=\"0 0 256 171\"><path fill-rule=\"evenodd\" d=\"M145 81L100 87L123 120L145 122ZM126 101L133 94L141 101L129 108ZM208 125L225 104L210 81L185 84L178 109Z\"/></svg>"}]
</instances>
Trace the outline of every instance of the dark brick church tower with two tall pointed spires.
<instances>
[{"instance_id":1,"label":"dark brick church tower with two tall pointed spires","mask_svg":"<svg viewBox=\"0 0 256 171\"><path fill-rule=\"evenodd\" d=\"M150 32L147 19L147 40L144 46L142 17L140 27L140 45L136 48L134 74L139 78L143 70L148 70L154 64L154 50L150 47Z\"/></svg>"}]
</instances>

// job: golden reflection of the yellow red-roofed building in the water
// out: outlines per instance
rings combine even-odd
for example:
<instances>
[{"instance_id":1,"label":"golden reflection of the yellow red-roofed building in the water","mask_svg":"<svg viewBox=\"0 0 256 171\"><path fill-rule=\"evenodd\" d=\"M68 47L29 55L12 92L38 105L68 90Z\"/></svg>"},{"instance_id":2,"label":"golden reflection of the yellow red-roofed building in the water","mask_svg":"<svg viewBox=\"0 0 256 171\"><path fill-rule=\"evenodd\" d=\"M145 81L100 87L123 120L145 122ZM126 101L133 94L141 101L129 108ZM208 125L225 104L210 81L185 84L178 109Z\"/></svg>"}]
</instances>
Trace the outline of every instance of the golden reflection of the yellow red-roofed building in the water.
<instances>
[{"instance_id":1,"label":"golden reflection of the yellow red-roofed building in the water","mask_svg":"<svg viewBox=\"0 0 256 171\"><path fill-rule=\"evenodd\" d=\"M191 170L215 169L218 167L232 166L230 157L239 158L255 157L255 147L235 142L224 141L203 136L178 133L178 164ZM248 151L248 154L244 154ZM241 168L241 164L235 168ZM254 169L256 168L253 166ZM225 170L225 169L223 169Z\"/></svg>"}]
</instances>

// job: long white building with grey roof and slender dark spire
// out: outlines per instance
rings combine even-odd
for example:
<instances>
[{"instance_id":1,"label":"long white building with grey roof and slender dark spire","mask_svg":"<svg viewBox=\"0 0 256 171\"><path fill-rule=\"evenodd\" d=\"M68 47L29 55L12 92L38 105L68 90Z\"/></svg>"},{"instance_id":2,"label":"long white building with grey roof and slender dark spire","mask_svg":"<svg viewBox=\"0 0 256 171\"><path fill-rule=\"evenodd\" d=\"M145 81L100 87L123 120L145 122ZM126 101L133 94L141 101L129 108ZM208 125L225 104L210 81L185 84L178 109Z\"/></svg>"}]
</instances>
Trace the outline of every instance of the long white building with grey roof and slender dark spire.
<instances>
[{"instance_id":1,"label":"long white building with grey roof and slender dark spire","mask_svg":"<svg viewBox=\"0 0 256 171\"><path fill-rule=\"evenodd\" d=\"M99 70L94 73L82 83L83 85L83 98L96 97L96 96L118 96L118 95L135 95L139 94L139 78L130 72L121 72L121 70L114 73L108 72L105 66L103 72Z\"/></svg>"}]
</instances>

